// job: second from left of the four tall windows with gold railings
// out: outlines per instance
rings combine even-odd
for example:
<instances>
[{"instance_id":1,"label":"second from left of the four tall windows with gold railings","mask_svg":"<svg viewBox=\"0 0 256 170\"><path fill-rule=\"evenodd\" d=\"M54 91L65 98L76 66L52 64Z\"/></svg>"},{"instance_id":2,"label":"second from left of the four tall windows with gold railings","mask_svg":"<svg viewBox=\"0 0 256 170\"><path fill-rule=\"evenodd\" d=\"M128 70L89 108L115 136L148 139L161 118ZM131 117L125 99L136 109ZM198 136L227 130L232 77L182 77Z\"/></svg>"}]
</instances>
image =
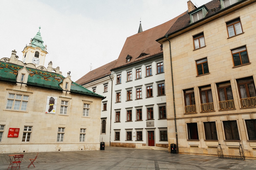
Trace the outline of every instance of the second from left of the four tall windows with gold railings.
<instances>
[{"instance_id":1,"label":"second from left of the four tall windows with gold railings","mask_svg":"<svg viewBox=\"0 0 256 170\"><path fill-rule=\"evenodd\" d=\"M199 87L201 111L214 111L211 86Z\"/></svg>"}]
</instances>

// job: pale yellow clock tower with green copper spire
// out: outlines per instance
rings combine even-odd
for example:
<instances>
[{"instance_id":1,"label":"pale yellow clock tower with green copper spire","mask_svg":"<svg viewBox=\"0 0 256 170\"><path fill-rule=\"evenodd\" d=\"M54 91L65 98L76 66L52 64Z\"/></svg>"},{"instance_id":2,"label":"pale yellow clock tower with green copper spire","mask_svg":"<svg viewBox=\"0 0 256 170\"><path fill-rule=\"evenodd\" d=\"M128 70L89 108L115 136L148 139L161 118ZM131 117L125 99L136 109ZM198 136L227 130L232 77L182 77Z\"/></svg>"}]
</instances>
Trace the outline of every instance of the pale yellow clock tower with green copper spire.
<instances>
[{"instance_id":1,"label":"pale yellow clock tower with green copper spire","mask_svg":"<svg viewBox=\"0 0 256 170\"><path fill-rule=\"evenodd\" d=\"M42 40L41 33L40 33L41 27L39 27L39 31L35 35L35 37L30 40L29 45L24 48L22 51L23 63L33 63L38 66L44 66L45 64L45 56L47 53L46 51L46 45L44 46L44 41Z\"/></svg>"}]
</instances>

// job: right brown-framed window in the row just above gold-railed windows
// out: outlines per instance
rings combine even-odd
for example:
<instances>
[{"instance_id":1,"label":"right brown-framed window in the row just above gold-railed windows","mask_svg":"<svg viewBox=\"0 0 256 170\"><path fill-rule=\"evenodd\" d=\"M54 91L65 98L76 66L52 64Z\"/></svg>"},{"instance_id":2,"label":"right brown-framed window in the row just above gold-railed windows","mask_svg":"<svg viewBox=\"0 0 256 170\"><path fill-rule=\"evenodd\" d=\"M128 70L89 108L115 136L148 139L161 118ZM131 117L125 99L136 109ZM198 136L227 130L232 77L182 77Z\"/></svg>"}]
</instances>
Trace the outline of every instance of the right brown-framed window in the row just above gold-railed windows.
<instances>
[{"instance_id":1,"label":"right brown-framed window in the row just above gold-railed windows","mask_svg":"<svg viewBox=\"0 0 256 170\"><path fill-rule=\"evenodd\" d=\"M249 63L246 46L231 50L234 66Z\"/></svg>"}]
</instances>

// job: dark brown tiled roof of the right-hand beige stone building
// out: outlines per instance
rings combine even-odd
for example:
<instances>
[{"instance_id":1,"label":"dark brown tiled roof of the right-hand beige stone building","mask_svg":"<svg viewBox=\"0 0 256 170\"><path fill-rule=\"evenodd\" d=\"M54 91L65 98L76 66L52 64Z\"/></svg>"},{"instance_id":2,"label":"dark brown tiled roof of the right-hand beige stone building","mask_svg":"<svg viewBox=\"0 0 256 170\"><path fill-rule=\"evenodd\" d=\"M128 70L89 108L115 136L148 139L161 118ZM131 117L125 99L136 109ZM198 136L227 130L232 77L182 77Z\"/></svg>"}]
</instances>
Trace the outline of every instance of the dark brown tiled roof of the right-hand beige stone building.
<instances>
[{"instance_id":1,"label":"dark brown tiled roof of the right-hand beige stone building","mask_svg":"<svg viewBox=\"0 0 256 170\"><path fill-rule=\"evenodd\" d=\"M211 15L214 15L214 14L216 14L216 12L217 11L219 11L220 9L221 9L221 6L220 6L220 1L219 0L213 0L213 1L210 1L210 2L208 2L207 4L205 4L205 6L206 6L206 8L208 8L208 12L207 12L207 14L206 14L206 16L205 16L205 18L207 18L207 17L209 17L209 16L211 16ZM200 7L199 7L200 8ZM213 9L213 8L216 8L216 11L211 11L211 9ZM201 21L201 20L199 20L199 21ZM199 22L198 21L198 22ZM195 22L196 23L196 22ZM194 23L193 23L194 24ZM183 15L183 16L181 16L181 17L179 17L178 19L177 19L177 21L172 25L172 27L170 27L170 29L167 31L167 33L166 34L171 34L171 33L174 33L174 32L176 32L176 31L178 31L178 30L180 30L180 29L182 29L182 28L185 28L185 27L187 27L187 26L189 26L189 25L192 25L192 24L190 24L190 15L189 14L185 14L185 15ZM165 35L165 34L163 34L163 35ZM163 36L162 35L162 36ZM164 37L164 36L163 36Z\"/></svg>"}]
</instances>

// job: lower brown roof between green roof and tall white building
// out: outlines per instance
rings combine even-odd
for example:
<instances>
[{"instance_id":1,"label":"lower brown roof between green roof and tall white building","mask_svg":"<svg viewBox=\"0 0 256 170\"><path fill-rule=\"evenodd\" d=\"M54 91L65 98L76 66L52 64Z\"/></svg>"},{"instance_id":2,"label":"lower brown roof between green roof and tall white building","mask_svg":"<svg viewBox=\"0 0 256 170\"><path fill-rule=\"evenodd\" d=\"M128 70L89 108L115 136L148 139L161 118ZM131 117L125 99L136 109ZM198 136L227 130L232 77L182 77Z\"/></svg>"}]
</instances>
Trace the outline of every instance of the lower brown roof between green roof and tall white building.
<instances>
[{"instance_id":1,"label":"lower brown roof between green roof and tall white building","mask_svg":"<svg viewBox=\"0 0 256 170\"><path fill-rule=\"evenodd\" d=\"M108 76L111 74L110 69L112 69L115 65L117 60L114 60L108 64L105 64L104 66L101 66L97 69L94 69L87 73L86 75L82 76L80 79L76 81L77 84L83 85L87 84L89 82L95 81L97 79L100 79L102 77Z\"/></svg>"}]
</instances>

